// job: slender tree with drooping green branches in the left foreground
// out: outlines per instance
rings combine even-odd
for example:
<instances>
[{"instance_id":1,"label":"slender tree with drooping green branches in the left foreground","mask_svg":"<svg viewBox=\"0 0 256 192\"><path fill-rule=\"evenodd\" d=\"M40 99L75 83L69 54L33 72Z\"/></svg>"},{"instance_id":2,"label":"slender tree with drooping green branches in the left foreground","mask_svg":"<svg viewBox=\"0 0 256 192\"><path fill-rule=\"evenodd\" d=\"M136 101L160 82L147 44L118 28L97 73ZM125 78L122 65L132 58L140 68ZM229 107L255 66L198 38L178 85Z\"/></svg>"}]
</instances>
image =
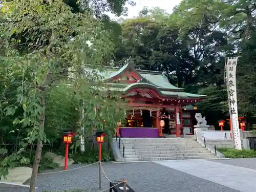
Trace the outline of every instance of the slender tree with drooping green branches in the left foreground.
<instances>
[{"instance_id":1,"label":"slender tree with drooping green branches in the left foreground","mask_svg":"<svg viewBox=\"0 0 256 192\"><path fill-rule=\"evenodd\" d=\"M27 144L36 141L30 181L32 192L35 191L42 142L48 141L44 132L46 98L57 85L66 90L69 88L68 93L75 94L77 103L81 99L87 101L85 118L88 121L83 118L80 123L90 124L90 129L94 126L112 134L113 125L122 118L118 101L113 103L109 94L103 91L99 75L102 58L112 52L113 45L93 15L72 13L61 0L12 1L5 3L2 10L0 48L1 63L5 68L1 70L8 74L4 81L6 90L10 93L11 85L16 86L12 92L15 96L1 101L2 113L13 116L22 107L23 115L16 117L13 124L28 127L29 133L17 154L1 162L1 175L8 173L8 167L13 165L11 162L22 156ZM85 71L82 65L86 67ZM13 100L11 104L9 99ZM101 104L99 114L95 113L95 103Z\"/></svg>"}]
</instances>

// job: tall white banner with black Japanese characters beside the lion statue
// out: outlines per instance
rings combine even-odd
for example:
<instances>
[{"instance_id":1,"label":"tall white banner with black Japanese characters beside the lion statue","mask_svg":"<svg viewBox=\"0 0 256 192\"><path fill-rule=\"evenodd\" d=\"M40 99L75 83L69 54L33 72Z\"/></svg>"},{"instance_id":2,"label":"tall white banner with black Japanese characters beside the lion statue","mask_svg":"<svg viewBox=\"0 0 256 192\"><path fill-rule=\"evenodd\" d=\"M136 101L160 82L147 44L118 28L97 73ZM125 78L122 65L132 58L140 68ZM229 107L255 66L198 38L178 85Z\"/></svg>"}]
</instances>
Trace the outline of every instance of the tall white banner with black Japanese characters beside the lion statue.
<instances>
[{"instance_id":1,"label":"tall white banner with black Japanese characters beside the lion statue","mask_svg":"<svg viewBox=\"0 0 256 192\"><path fill-rule=\"evenodd\" d=\"M234 139L234 146L237 150L242 150L241 137L239 131L238 121L238 103L237 103L237 71L238 57L228 57L226 63L226 81L227 81L227 94L229 102L229 114Z\"/></svg>"}]
</instances>

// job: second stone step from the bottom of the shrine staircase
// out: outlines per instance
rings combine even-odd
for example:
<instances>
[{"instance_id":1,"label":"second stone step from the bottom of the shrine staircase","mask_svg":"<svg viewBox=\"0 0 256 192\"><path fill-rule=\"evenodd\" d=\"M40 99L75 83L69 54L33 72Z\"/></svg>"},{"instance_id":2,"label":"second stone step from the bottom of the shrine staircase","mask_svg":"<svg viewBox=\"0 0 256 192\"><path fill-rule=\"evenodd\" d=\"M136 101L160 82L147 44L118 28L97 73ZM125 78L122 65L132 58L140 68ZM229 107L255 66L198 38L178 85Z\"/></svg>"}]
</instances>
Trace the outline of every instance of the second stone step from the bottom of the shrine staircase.
<instances>
[{"instance_id":1,"label":"second stone step from the bottom of the shrine staircase","mask_svg":"<svg viewBox=\"0 0 256 192\"><path fill-rule=\"evenodd\" d=\"M190 154L143 154L143 155L125 155L124 158L155 158L155 157L190 157L190 156L211 156L211 153L190 153Z\"/></svg>"}]
</instances>

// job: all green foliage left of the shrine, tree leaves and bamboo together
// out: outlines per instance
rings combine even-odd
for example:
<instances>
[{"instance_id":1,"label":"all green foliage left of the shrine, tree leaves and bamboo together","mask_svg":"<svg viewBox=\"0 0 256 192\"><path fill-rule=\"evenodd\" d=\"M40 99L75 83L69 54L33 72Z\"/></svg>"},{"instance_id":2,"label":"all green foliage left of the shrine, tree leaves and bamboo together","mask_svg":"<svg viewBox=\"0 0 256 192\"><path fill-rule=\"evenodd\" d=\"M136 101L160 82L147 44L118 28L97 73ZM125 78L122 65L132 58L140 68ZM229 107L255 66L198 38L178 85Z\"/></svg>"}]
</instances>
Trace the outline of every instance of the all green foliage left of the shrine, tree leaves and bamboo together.
<instances>
[{"instance_id":1,"label":"all green foliage left of the shrine, tree leaves and bamboo together","mask_svg":"<svg viewBox=\"0 0 256 192\"><path fill-rule=\"evenodd\" d=\"M124 3L110 7L122 12ZM26 151L34 143L37 168L42 143L53 146L64 129L79 137L95 127L112 136L124 113L120 96L106 92L99 75L114 50L102 20L86 9L74 12L62 0L4 2L0 17L1 141L15 146L2 156L1 176L29 164ZM39 169L55 166L43 159Z\"/></svg>"}]
</instances>

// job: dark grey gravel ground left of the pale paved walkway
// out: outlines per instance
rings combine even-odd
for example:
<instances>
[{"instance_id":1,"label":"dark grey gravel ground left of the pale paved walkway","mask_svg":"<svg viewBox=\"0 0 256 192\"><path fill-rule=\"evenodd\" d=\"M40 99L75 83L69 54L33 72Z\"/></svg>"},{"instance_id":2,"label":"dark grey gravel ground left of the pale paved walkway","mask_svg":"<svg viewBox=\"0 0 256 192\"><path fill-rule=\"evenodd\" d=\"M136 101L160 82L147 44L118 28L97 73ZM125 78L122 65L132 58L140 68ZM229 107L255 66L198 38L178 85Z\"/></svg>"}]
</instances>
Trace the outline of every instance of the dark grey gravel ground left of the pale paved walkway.
<instances>
[{"instance_id":1,"label":"dark grey gravel ground left of the pale paved walkway","mask_svg":"<svg viewBox=\"0 0 256 192\"><path fill-rule=\"evenodd\" d=\"M72 165L74 168L82 165ZM178 170L153 163L102 163L110 180L127 178L127 184L137 192L239 192L238 190L191 176ZM102 189L109 186L109 181L102 175ZM53 174L38 175L38 192L41 190L88 189L98 188L98 165ZM3 190L0 191L2 192ZM4 190L4 192L27 192L28 188ZM109 191L109 190L106 190Z\"/></svg>"}]
</instances>

